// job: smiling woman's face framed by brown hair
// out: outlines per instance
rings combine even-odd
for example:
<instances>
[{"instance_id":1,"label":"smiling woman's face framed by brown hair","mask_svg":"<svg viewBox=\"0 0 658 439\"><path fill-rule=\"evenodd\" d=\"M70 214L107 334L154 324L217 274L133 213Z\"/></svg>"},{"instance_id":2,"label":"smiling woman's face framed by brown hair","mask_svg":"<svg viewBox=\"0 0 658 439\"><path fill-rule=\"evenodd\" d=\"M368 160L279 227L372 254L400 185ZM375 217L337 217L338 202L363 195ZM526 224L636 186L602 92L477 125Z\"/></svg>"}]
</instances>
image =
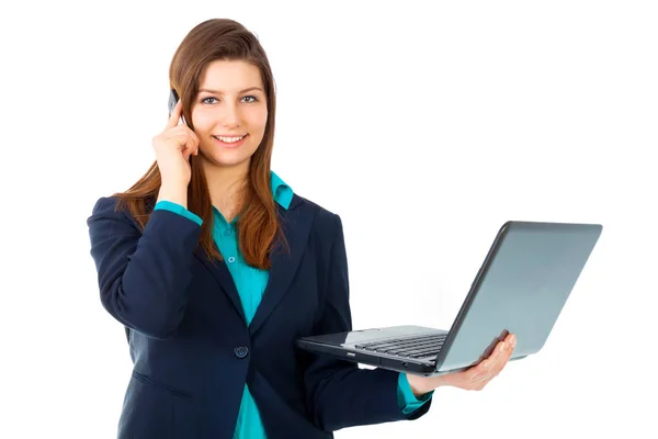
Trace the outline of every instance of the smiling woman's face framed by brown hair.
<instances>
[{"instance_id":1,"label":"smiling woman's face framed by brown hair","mask_svg":"<svg viewBox=\"0 0 658 439\"><path fill-rule=\"evenodd\" d=\"M258 67L241 60L209 63L192 105L198 157L218 167L248 169L265 133L265 99Z\"/></svg>"}]
</instances>

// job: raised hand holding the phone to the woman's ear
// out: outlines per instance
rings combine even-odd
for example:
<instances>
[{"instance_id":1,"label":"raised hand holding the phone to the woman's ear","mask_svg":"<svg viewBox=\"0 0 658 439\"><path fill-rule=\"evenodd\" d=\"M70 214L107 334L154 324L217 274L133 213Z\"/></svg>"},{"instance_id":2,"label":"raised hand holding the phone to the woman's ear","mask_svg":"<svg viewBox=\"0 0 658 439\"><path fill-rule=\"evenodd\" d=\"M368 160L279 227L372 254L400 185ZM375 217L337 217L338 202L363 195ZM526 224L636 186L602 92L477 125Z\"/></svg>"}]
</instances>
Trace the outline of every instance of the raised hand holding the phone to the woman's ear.
<instances>
[{"instance_id":1,"label":"raised hand holding the phone to the woman's ear","mask_svg":"<svg viewBox=\"0 0 658 439\"><path fill-rule=\"evenodd\" d=\"M179 101L164 130L152 139L162 187L188 188L192 177L190 156L198 155L198 137L188 125L179 125L182 108Z\"/></svg>"}]
</instances>

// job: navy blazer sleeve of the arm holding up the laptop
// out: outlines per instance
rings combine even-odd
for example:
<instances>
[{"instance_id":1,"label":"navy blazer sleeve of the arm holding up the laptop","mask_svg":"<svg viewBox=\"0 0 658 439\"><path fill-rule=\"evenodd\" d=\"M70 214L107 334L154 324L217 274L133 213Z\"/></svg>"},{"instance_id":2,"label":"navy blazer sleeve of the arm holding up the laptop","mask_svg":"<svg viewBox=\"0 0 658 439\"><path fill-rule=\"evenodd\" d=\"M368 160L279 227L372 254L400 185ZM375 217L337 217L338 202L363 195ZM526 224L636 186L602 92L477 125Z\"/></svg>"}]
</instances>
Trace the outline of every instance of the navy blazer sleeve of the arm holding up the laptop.
<instances>
[{"instance_id":1,"label":"navy blazer sleeve of the arm holding up the laptop","mask_svg":"<svg viewBox=\"0 0 658 439\"><path fill-rule=\"evenodd\" d=\"M316 334L352 330L349 275L340 216L334 216L326 300ZM345 427L417 419L431 399L411 414L398 403L399 373L385 369L360 369L356 363L310 354L305 371L307 406L314 423L326 431Z\"/></svg>"}]
</instances>

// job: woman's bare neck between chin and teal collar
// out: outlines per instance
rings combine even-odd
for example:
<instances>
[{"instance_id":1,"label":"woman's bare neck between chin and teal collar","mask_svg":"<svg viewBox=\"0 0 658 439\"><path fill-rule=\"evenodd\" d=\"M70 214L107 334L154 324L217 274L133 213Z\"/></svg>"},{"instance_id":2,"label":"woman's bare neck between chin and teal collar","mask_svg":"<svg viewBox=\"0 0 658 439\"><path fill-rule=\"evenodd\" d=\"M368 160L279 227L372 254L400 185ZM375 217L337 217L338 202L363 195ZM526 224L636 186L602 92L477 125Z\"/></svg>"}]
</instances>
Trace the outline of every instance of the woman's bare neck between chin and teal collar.
<instances>
[{"instance_id":1,"label":"woman's bare neck between chin and teal collar","mask_svg":"<svg viewBox=\"0 0 658 439\"><path fill-rule=\"evenodd\" d=\"M230 222L238 213L238 195L248 179L249 161L237 166L219 167L204 160L203 168L211 203L222 212L227 222Z\"/></svg>"}]
</instances>

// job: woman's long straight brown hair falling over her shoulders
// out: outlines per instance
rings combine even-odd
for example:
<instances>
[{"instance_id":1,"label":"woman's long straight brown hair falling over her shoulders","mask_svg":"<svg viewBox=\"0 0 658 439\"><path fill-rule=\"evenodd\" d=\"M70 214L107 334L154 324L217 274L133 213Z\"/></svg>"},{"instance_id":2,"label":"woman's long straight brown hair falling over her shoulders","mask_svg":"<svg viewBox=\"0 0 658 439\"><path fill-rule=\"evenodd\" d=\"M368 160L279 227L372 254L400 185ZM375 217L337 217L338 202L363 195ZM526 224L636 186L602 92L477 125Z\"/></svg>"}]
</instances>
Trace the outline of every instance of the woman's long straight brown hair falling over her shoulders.
<instances>
[{"instance_id":1,"label":"woman's long straight brown hair falling over her shoulders","mask_svg":"<svg viewBox=\"0 0 658 439\"><path fill-rule=\"evenodd\" d=\"M251 157L247 184L239 196L240 216L238 239L240 251L248 264L270 268L270 252L277 238L283 238L276 216L276 205L270 187L270 164L274 142L276 110L272 69L258 38L240 23L228 19L213 19L197 24L183 38L169 67L169 81L183 104L183 115L191 130L192 104L198 92L204 67L214 60L243 60L258 67L265 88L268 122L263 139ZM213 240L213 205L207 181L201 164L190 157L192 178L188 185L188 210L203 219L198 244L211 259L222 259ZM157 161L126 192L115 193L127 206L141 227L146 227L155 200L160 190L160 171Z\"/></svg>"}]
</instances>

